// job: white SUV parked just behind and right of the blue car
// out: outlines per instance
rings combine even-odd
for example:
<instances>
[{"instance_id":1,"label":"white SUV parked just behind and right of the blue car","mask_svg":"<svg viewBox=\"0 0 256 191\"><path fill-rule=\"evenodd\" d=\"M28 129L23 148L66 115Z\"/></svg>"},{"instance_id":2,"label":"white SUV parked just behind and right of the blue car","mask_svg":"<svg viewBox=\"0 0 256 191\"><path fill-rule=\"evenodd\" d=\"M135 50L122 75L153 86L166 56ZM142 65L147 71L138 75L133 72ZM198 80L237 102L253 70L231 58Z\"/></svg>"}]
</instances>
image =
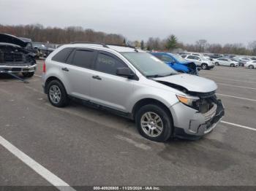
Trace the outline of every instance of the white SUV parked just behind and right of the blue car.
<instances>
[{"instance_id":1,"label":"white SUV parked just behind and right of the blue car","mask_svg":"<svg viewBox=\"0 0 256 191\"><path fill-rule=\"evenodd\" d=\"M203 56L200 57L197 55L182 55L182 58L185 58L187 61L195 63L197 66L202 67L203 70L214 68L214 63L207 60Z\"/></svg>"}]
</instances>

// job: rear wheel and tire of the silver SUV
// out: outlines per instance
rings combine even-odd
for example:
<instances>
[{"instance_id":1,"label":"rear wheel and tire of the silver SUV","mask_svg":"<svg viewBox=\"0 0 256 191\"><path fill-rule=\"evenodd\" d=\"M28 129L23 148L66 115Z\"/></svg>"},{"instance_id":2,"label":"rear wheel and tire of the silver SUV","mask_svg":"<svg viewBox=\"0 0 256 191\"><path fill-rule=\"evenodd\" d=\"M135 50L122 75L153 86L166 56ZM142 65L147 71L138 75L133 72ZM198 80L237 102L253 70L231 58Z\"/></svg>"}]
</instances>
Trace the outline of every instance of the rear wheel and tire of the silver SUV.
<instances>
[{"instance_id":1,"label":"rear wheel and tire of the silver SUV","mask_svg":"<svg viewBox=\"0 0 256 191\"><path fill-rule=\"evenodd\" d=\"M56 107L64 107L69 104L69 98L64 85L59 80L50 81L47 87L50 104Z\"/></svg>"}]
</instances>

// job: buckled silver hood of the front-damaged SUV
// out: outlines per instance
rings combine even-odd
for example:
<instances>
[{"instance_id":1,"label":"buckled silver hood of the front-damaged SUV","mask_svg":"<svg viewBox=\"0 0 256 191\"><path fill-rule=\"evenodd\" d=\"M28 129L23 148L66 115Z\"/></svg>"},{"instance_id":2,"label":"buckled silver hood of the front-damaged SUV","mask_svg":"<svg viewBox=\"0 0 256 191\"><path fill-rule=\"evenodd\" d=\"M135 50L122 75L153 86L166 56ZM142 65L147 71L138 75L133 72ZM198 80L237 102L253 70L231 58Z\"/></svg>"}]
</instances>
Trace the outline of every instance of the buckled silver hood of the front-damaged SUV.
<instances>
[{"instance_id":1,"label":"buckled silver hood of the front-damaged SUV","mask_svg":"<svg viewBox=\"0 0 256 191\"><path fill-rule=\"evenodd\" d=\"M165 82L165 85L178 85L191 92L209 93L217 90L217 85L211 79L197 77L190 74L176 74L168 77L154 78L157 82Z\"/></svg>"}]
</instances>

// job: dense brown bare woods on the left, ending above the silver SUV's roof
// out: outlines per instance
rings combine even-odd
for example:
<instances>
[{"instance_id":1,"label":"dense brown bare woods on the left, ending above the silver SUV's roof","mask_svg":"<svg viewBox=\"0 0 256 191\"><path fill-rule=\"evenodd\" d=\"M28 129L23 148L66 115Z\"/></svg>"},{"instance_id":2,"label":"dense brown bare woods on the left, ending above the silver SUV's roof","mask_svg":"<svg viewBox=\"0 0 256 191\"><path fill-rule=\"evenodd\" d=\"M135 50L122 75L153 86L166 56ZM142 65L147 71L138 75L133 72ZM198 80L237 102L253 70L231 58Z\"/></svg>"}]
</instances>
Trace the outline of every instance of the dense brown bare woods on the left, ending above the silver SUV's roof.
<instances>
[{"instance_id":1,"label":"dense brown bare woods on the left, ending above the silver SUV's roof","mask_svg":"<svg viewBox=\"0 0 256 191\"><path fill-rule=\"evenodd\" d=\"M0 33L29 38L34 42L50 42L54 44L67 44L70 42L102 42L110 44L124 43L124 36L121 34L106 34L101 31L84 29L80 26L69 26L67 28L45 28L40 24L26 26L0 25Z\"/></svg>"}]
</instances>

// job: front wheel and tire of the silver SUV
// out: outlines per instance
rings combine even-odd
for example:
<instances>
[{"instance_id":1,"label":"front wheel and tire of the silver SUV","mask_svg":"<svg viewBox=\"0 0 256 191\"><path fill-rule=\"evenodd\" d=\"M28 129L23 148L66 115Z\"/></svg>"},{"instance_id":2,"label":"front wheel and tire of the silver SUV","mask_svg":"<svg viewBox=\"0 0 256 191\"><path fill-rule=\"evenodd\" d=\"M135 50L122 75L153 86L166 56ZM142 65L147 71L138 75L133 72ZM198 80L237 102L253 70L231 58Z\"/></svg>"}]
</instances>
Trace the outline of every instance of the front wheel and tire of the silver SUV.
<instances>
[{"instance_id":1,"label":"front wheel and tire of the silver SUV","mask_svg":"<svg viewBox=\"0 0 256 191\"><path fill-rule=\"evenodd\" d=\"M135 122L140 135L151 141L167 141L173 132L170 114L155 104L142 106L135 114Z\"/></svg>"}]
</instances>

